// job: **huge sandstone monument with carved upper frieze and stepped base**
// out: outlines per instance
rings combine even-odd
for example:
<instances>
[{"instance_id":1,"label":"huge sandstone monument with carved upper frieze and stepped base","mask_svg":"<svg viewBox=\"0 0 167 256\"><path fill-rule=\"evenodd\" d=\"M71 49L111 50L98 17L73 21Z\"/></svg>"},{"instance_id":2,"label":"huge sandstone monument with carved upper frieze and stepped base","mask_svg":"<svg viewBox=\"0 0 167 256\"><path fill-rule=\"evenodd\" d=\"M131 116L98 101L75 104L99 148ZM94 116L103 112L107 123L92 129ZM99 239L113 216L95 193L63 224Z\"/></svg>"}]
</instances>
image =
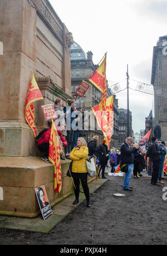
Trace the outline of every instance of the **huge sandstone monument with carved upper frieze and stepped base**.
<instances>
[{"instance_id":1,"label":"huge sandstone monument with carved upper frieze and stepped base","mask_svg":"<svg viewBox=\"0 0 167 256\"><path fill-rule=\"evenodd\" d=\"M48 0L0 1L0 214L40 214L35 187L45 185L51 206L70 195L67 162L61 162L62 189L53 190L54 167L37 157L24 110L32 73L43 96L35 103L37 131L47 126L41 106L71 97L73 38ZM1 44L1 45L2 45ZM1 48L2 50L2 48Z\"/></svg>"}]
</instances>

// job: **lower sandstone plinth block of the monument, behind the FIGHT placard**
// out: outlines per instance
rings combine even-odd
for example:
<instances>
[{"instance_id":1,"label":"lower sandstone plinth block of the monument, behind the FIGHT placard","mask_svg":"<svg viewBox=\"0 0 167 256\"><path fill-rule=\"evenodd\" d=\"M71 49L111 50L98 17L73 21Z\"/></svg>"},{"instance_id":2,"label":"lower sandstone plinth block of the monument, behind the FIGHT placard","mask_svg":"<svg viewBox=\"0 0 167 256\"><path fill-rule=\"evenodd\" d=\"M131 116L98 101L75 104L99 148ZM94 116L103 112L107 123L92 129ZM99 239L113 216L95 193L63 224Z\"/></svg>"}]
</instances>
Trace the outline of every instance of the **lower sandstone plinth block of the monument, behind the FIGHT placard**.
<instances>
[{"instance_id":1,"label":"lower sandstone plinth block of the monument, behind the FIGHT placard","mask_svg":"<svg viewBox=\"0 0 167 256\"><path fill-rule=\"evenodd\" d=\"M36 217L41 214L35 188L45 185L53 206L73 193L72 178L67 177L70 160L61 160L62 189L53 190L54 166L40 157L0 157L0 214ZM95 178L89 178L89 182Z\"/></svg>"}]
</instances>

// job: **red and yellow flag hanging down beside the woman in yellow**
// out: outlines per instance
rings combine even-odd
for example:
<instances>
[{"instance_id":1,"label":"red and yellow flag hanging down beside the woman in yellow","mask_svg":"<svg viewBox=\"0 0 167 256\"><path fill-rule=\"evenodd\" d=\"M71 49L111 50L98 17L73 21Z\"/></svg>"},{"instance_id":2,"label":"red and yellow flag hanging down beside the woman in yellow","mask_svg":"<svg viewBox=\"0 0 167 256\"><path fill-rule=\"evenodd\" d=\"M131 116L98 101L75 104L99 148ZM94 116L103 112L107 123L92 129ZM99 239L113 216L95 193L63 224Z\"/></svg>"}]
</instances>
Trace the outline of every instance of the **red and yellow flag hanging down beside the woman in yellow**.
<instances>
[{"instance_id":1,"label":"red and yellow flag hanging down beside the woman in yellow","mask_svg":"<svg viewBox=\"0 0 167 256\"><path fill-rule=\"evenodd\" d=\"M60 162L61 147L58 140L58 134L52 119L52 128L50 136L50 148L48 159L54 165L54 190L59 194L62 188L62 174Z\"/></svg>"}]
</instances>

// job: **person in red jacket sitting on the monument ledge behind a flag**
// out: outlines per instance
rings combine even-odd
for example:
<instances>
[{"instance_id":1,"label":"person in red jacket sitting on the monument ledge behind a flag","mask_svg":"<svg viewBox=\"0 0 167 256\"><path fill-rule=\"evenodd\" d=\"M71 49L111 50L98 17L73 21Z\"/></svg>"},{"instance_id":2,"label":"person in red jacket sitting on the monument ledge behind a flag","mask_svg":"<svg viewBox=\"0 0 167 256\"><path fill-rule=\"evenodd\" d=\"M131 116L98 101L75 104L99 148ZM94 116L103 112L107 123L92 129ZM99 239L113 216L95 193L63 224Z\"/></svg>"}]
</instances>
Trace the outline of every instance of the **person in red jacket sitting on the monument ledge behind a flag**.
<instances>
[{"instance_id":1,"label":"person in red jacket sitting on the monument ledge behind a flag","mask_svg":"<svg viewBox=\"0 0 167 256\"><path fill-rule=\"evenodd\" d=\"M62 136L63 127L56 126L56 129L57 129L57 133L59 136L60 144L62 146L67 146L67 141ZM50 148L50 144L49 144L50 136L51 136L51 128L48 129L47 131L43 132L41 138L38 139L38 141L37 141L38 149L41 152L45 152L45 156L42 158L42 160L44 160L46 162L50 162L50 160L48 159L49 148ZM61 156L61 159L62 159L62 156Z\"/></svg>"}]
</instances>

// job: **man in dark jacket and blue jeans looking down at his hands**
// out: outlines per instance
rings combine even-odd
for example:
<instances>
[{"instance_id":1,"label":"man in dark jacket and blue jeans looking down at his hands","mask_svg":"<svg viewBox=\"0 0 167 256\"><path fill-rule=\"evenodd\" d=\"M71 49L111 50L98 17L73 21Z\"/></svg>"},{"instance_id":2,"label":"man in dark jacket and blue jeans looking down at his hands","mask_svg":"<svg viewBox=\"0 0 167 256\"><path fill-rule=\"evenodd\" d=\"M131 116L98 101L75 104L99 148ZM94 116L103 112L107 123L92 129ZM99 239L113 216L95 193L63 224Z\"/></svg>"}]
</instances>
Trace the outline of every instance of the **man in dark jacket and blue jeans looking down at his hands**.
<instances>
[{"instance_id":1,"label":"man in dark jacket and blue jeans looking down at his hands","mask_svg":"<svg viewBox=\"0 0 167 256\"><path fill-rule=\"evenodd\" d=\"M134 153L139 149L139 146L131 148L133 143L133 139L131 137L127 137L124 143L121 145L121 159L120 165L126 164L127 171L125 172L125 180L124 180L124 190L132 191L132 187L129 186L129 182L131 179L132 170L134 169Z\"/></svg>"}]
</instances>

